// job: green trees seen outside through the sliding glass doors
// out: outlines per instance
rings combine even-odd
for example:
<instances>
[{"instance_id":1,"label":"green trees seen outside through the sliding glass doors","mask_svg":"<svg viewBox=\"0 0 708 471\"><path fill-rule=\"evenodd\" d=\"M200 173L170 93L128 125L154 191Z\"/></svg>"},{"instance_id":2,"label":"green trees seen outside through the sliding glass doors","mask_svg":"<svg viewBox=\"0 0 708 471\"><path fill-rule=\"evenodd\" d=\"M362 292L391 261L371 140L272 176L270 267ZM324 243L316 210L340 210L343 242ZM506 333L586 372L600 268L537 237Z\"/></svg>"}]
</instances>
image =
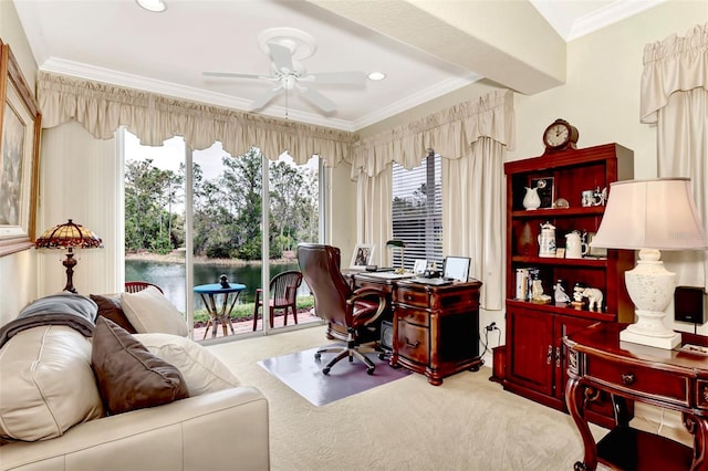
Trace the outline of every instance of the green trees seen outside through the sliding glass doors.
<instances>
[{"instance_id":1,"label":"green trees seen outside through the sliding glass doors","mask_svg":"<svg viewBox=\"0 0 708 471\"><path fill-rule=\"evenodd\" d=\"M218 177L206 179L192 165L192 245L196 255L260 260L262 247L262 154L252 148L221 157ZM185 165L177 172L153 159L128 160L125 169L125 250L169 253L185 247ZM300 241L317 239L319 176L309 167L271 161L270 258Z\"/></svg>"}]
</instances>

